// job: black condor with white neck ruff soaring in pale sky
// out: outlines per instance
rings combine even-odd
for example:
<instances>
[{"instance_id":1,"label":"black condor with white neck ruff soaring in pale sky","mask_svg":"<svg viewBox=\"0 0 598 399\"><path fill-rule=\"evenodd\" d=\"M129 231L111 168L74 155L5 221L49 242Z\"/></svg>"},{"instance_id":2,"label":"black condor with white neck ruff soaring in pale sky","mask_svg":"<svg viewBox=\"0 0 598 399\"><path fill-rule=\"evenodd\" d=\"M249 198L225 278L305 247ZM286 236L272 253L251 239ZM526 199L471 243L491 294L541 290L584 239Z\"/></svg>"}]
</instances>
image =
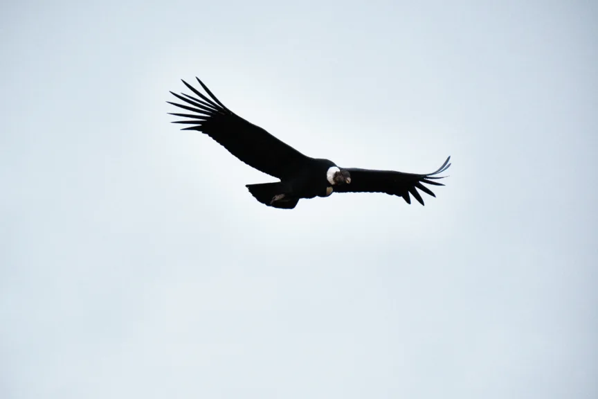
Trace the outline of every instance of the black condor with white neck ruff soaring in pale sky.
<instances>
[{"instance_id":1,"label":"black condor with white neck ruff soaring in pale sky","mask_svg":"<svg viewBox=\"0 0 598 399\"><path fill-rule=\"evenodd\" d=\"M192 112L169 113L185 118L173 123L190 125L181 130L197 130L207 134L248 166L280 179L274 183L246 185L253 197L262 204L293 209L302 198L328 197L332 193L386 193L403 197L408 204L411 204L410 195L413 195L417 202L424 205L418 189L435 197L424 184L444 186L437 179L445 177L438 175L451 166L451 157L435 172L424 174L341 168L328 159L307 157L261 127L241 118L226 108L199 78L196 79L210 97L183 80L183 84L197 97L170 91L183 103L167 103Z\"/></svg>"}]
</instances>

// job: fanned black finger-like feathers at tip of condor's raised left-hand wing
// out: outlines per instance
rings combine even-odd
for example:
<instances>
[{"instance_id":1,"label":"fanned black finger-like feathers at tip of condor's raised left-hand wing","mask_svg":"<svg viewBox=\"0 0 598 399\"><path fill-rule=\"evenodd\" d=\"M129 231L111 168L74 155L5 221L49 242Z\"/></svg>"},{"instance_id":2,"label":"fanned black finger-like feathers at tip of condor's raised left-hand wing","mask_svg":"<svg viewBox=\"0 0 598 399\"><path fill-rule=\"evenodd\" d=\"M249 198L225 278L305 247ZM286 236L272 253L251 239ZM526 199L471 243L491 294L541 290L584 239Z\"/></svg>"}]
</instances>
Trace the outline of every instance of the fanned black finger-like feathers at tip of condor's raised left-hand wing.
<instances>
[{"instance_id":1,"label":"fanned black finger-like feathers at tip of condor's raised left-hand wing","mask_svg":"<svg viewBox=\"0 0 598 399\"><path fill-rule=\"evenodd\" d=\"M210 89L208 89L208 87L206 87L206 85L204 85L203 82L201 82L201 80L199 80L199 78L197 78L197 76L195 77L195 79L197 79L197 82L199 82L199 85L201 85L201 87L203 87L203 90L205 90L206 93L212 99L210 100L210 98L204 96L197 89L195 89L194 87L189 85L187 82L185 82L185 80L181 79L181 81L185 84L185 86L188 87L188 89L190 89L199 98L194 98L194 97L189 96L188 94L184 94L184 93L181 93L179 95L179 94L176 94L176 93L173 93L172 91L170 91L170 94L172 94L176 98L179 98L179 100L192 105L192 107L190 107L189 105L171 103L170 101L167 101L167 103L172 104L175 107L186 109L187 111L197 112L197 114L176 114L176 113L171 113L171 112L169 112L168 114L174 115L174 116L181 116L182 118L190 118L190 119L185 119L184 121L173 121L172 122L172 123L182 123L183 125L193 125L190 127L184 127L181 130L199 130L201 132L201 126L202 126L203 122L207 121L208 118L210 118L210 116L214 116L215 114L233 115L233 112L231 112L230 109L226 108L224 106L224 104L222 104L218 100L218 98L216 98L216 96L214 94L212 94L212 91L210 91Z\"/></svg>"}]
</instances>

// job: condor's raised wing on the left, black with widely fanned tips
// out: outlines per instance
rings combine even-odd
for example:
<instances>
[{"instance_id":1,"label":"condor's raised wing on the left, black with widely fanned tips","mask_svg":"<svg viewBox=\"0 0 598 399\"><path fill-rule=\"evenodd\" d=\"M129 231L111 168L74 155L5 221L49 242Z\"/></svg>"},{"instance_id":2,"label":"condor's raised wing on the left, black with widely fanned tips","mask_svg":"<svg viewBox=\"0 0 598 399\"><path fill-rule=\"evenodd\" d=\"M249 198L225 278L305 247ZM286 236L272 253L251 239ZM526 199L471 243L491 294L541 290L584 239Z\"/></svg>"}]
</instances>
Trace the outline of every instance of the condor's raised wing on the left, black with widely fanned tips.
<instances>
[{"instance_id":1,"label":"condor's raised wing on the left, black with widely fanned tips","mask_svg":"<svg viewBox=\"0 0 598 399\"><path fill-rule=\"evenodd\" d=\"M212 94L206 85L203 85L199 78L196 77L196 79L211 99L183 80L185 86L197 97L183 93L179 95L170 91L173 96L186 104L167 101L167 103L176 105L176 107L193 112L193 114L169 113L170 115L186 118L183 121L174 121L173 123L191 125L181 130L197 130L208 134L244 163L279 179L292 175L308 159L290 145L276 139L266 130L231 112Z\"/></svg>"}]
</instances>

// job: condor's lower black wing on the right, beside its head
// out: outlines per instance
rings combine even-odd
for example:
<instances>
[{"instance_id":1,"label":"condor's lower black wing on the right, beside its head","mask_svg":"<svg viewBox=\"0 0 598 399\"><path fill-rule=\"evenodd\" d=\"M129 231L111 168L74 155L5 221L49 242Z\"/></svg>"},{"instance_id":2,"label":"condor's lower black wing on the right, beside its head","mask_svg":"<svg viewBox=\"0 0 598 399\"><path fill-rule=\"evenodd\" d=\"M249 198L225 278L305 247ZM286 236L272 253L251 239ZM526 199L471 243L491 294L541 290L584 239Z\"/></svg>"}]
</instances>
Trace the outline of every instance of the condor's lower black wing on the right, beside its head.
<instances>
[{"instance_id":1,"label":"condor's lower black wing on the right, beside its head","mask_svg":"<svg viewBox=\"0 0 598 399\"><path fill-rule=\"evenodd\" d=\"M446 176L436 176L444 172L451 166L447 158L442 166L432 173L425 175L416 175L415 173L395 172L393 170L368 170L368 169L346 169L351 174L351 183L343 184L341 186L334 186L335 193L386 193L390 195L398 195L403 197L408 204L411 204L411 197L409 193L417 199L417 201L424 205L422 195L419 195L417 189L424 193L436 197L432 191L424 186L424 184L431 184L433 186L444 186L438 183L437 179L443 179Z\"/></svg>"}]
</instances>

